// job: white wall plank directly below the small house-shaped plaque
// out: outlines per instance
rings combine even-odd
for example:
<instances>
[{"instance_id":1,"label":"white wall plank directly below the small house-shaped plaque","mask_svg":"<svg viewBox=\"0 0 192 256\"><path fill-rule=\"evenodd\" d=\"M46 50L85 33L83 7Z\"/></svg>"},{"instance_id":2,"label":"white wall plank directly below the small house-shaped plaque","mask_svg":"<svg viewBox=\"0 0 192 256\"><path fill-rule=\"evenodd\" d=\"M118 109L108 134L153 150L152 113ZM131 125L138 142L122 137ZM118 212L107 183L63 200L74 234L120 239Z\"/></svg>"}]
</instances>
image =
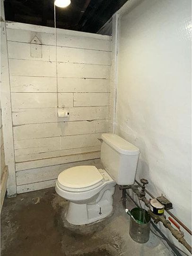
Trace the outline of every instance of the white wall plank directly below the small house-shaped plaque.
<instances>
[{"instance_id":1,"label":"white wall plank directly below the small house-shaped plaque","mask_svg":"<svg viewBox=\"0 0 192 256\"><path fill-rule=\"evenodd\" d=\"M9 59L11 75L55 77L55 63ZM58 63L59 77L110 78L110 66L95 64Z\"/></svg>"}]
</instances>

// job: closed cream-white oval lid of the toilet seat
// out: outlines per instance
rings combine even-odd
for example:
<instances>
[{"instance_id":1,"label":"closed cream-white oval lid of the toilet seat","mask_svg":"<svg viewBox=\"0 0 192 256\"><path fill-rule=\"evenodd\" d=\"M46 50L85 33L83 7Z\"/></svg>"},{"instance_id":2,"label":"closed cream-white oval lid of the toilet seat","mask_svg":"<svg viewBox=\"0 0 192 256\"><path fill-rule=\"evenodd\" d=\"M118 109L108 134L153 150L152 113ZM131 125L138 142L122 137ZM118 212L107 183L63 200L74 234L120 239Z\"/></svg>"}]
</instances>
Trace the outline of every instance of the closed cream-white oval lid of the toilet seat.
<instances>
[{"instance_id":1,"label":"closed cream-white oval lid of the toilet seat","mask_svg":"<svg viewBox=\"0 0 192 256\"><path fill-rule=\"evenodd\" d=\"M96 187L103 180L103 176L99 173L96 166L81 165L68 168L61 172L57 181L63 188L83 189L88 187Z\"/></svg>"}]
</instances>

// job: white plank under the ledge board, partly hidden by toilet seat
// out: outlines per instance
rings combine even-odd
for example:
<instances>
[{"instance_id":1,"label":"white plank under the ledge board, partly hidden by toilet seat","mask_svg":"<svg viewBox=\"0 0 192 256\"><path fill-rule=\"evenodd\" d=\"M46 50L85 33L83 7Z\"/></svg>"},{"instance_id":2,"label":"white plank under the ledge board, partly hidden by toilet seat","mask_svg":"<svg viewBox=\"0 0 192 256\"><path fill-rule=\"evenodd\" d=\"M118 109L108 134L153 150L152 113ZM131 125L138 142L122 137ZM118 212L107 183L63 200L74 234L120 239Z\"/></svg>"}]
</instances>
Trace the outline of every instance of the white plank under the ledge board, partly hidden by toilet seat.
<instances>
[{"instance_id":1,"label":"white plank under the ledge board, partly hidden by toilet seat","mask_svg":"<svg viewBox=\"0 0 192 256\"><path fill-rule=\"evenodd\" d=\"M22 184L30 184L30 183L57 179L58 175L62 171L70 167L79 166L79 165L95 165L97 168L102 167L100 159L95 159L95 160L74 162L70 164L46 166L41 168L18 171L16 173L17 186Z\"/></svg>"}]
</instances>

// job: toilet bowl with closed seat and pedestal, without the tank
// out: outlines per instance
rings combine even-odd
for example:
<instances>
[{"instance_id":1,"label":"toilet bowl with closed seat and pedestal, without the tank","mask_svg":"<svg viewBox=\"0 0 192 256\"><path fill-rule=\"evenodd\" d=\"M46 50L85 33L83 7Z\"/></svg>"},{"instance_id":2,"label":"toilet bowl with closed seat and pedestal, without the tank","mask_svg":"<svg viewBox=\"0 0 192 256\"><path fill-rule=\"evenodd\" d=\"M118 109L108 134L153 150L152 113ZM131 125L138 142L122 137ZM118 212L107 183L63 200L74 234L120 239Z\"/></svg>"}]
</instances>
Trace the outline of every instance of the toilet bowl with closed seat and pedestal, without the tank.
<instances>
[{"instance_id":1,"label":"toilet bowl with closed seat and pedestal, without the tank","mask_svg":"<svg viewBox=\"0 0 192 256\"><path fill-rule=\"evenodd\" d=\"M93 165L75 166L61 172L55 189L69 201L66 220L73 225L83 225L110 215L115 185L104 169Z\"/></svg>"}]
</instances>

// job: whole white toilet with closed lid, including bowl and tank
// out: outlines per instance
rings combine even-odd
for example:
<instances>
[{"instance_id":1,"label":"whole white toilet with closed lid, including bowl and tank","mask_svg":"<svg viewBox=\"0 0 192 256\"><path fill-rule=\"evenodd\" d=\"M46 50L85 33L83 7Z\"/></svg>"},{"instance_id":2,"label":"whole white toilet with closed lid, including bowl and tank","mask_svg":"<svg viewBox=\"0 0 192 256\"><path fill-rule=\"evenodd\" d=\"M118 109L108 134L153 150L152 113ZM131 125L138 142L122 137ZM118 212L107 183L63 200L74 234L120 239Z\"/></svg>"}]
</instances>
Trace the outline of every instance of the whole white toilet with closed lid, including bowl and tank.
<instances>
[{"instance_id":1,"label":"whole white toilet with closed lid, including bowl and tank","mask_svg":"<svg viewBox=\"0 0 192 256\"><path fill-rule=\"evenodd\" d=\"M134 183L140 149L112 133L102 134L101 141L105 169L81 165L58 176L55 190L69 201L65 217L73 225L93 223L110 215L115 185Z\"/></svg>"}]
</instances>

